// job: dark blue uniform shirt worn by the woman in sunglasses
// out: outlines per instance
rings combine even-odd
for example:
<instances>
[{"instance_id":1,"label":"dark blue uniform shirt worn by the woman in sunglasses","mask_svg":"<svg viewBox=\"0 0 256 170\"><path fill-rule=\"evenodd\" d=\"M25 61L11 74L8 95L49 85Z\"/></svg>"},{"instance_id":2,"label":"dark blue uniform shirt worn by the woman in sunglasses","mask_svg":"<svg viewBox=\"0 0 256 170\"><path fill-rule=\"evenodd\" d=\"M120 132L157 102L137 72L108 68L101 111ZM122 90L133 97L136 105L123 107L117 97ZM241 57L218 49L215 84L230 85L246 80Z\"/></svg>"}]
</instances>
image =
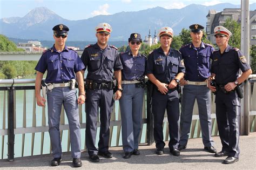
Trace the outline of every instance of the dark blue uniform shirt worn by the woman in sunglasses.
<instances>
[{"instance_id":1,"label":"dark blue uniform shirt worn by the woman in sunglasses","mask_svg":"<svg viewBox=\"0 0 256 170\"><path fill-rule=\"evenodd\" d=\"M146 56L140 55L133 57L132 52L120 53L120 60L123 64L122 80L136 80L145 76Z\"/></svg>"}]
</instances>

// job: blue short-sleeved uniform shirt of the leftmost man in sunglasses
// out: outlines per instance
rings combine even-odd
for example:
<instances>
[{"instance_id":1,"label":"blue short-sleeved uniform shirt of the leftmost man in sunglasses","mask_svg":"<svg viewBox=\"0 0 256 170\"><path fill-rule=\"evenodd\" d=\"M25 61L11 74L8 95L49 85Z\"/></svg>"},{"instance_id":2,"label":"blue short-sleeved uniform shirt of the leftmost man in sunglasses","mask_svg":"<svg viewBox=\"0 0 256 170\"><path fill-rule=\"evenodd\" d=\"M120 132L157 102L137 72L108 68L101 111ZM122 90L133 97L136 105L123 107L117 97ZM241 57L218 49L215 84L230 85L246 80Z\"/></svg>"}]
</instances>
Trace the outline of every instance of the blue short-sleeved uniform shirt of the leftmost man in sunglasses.
<instances>
[{"instance_id":1,"label":"blue short-sleeved uniform shirt of the leftmost man in sunglasses","mask_svg":"<svg viewBox=\"0 0 256 170\"><path fill-rule=\"evenodd\" d=\"M76 51L66 46L62 52L58 52L53 45L46 50L39 59L35 70L45 73L45 83L66 83L75 79L75 73L85 68Z\"/></svg>"}]
</instances>

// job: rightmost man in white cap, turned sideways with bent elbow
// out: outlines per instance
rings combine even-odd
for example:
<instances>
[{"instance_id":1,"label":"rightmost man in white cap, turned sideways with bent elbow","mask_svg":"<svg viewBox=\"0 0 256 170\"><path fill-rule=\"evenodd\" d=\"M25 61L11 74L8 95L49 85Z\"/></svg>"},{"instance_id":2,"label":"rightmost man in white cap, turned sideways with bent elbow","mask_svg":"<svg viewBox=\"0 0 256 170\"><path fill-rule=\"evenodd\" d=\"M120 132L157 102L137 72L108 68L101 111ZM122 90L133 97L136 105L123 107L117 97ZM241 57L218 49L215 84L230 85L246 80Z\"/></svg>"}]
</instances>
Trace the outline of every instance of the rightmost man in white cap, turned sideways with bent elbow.
<instances>
[{"instance_id":1,"label":"rightmost man in white cap, turned sideways with bent elbow","mask_svg":"<svg viewBox=\"0 0 256 170\"><path fill-rule=\"evenodd\" d=\"M223 26L216 26L214 32L219 47L219 50L212 54L211 67L216 87L210 83L208 86L216 94L216 118L223 146L220 152L215 153L215 157L228 156L223 163L233 164L239 160L240 153L240 99L236 90L237 86L250 76L252 70L242 52L228 45L232 33ZM242 74L238 77L240 69Z\"/></svg>"}]
</instances>

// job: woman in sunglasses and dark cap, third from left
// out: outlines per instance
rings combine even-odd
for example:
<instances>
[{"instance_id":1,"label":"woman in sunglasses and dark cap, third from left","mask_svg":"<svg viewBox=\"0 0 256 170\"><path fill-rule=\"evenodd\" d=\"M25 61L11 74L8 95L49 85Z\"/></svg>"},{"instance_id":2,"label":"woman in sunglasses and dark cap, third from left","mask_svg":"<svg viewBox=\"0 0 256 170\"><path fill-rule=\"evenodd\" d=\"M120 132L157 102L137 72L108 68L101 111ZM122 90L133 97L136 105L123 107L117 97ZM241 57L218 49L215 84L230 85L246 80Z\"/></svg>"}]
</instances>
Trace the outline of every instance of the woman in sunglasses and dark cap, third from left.
<instances>
[{"instance_id":1,"label":"woman in sunglasses and dark cap, third from left","mask_svg":"<svg viewBox=\"0 0 256 170\"><path fill-rule=\"evenodd\" d=\"M122 97L119 99L122 118L123 158L139 155L139 133L142 130L142 108L145 85L146 56L139 53L142 38L132 33L128 39L130 50L120 53L123 64Z\"/></svg>"}]
</instances>

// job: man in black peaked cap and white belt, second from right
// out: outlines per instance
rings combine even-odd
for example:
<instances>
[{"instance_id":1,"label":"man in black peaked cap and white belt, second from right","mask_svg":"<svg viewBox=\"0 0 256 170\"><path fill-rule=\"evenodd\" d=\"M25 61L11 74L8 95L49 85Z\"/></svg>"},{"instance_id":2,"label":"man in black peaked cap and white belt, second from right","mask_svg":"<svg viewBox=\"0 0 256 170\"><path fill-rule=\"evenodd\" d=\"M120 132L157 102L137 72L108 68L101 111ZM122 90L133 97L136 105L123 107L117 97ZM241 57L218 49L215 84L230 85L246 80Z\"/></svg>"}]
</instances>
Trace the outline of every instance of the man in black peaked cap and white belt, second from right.
<instances>
[{"instance_id":1,"label":"man in black peaked cap and white belt, second from right","mask_svg":"<svg viewBox=\"0 0 256 170\"><path fill-rule=\"evenodd\" d=\"M215 153L213 147L212 118L211 118L211 91L207 87L207 78L210 73L210 56L214 48L210 44L201 41L204 26L199 24L190 25L192 42L180 48L186 74L180 84L184 86L181 99L180 114L180 140L178 149L185 149L193 115L194 101L197 99L199 119L203 137L204 149Z\"/></svg>"}]
</instances>

